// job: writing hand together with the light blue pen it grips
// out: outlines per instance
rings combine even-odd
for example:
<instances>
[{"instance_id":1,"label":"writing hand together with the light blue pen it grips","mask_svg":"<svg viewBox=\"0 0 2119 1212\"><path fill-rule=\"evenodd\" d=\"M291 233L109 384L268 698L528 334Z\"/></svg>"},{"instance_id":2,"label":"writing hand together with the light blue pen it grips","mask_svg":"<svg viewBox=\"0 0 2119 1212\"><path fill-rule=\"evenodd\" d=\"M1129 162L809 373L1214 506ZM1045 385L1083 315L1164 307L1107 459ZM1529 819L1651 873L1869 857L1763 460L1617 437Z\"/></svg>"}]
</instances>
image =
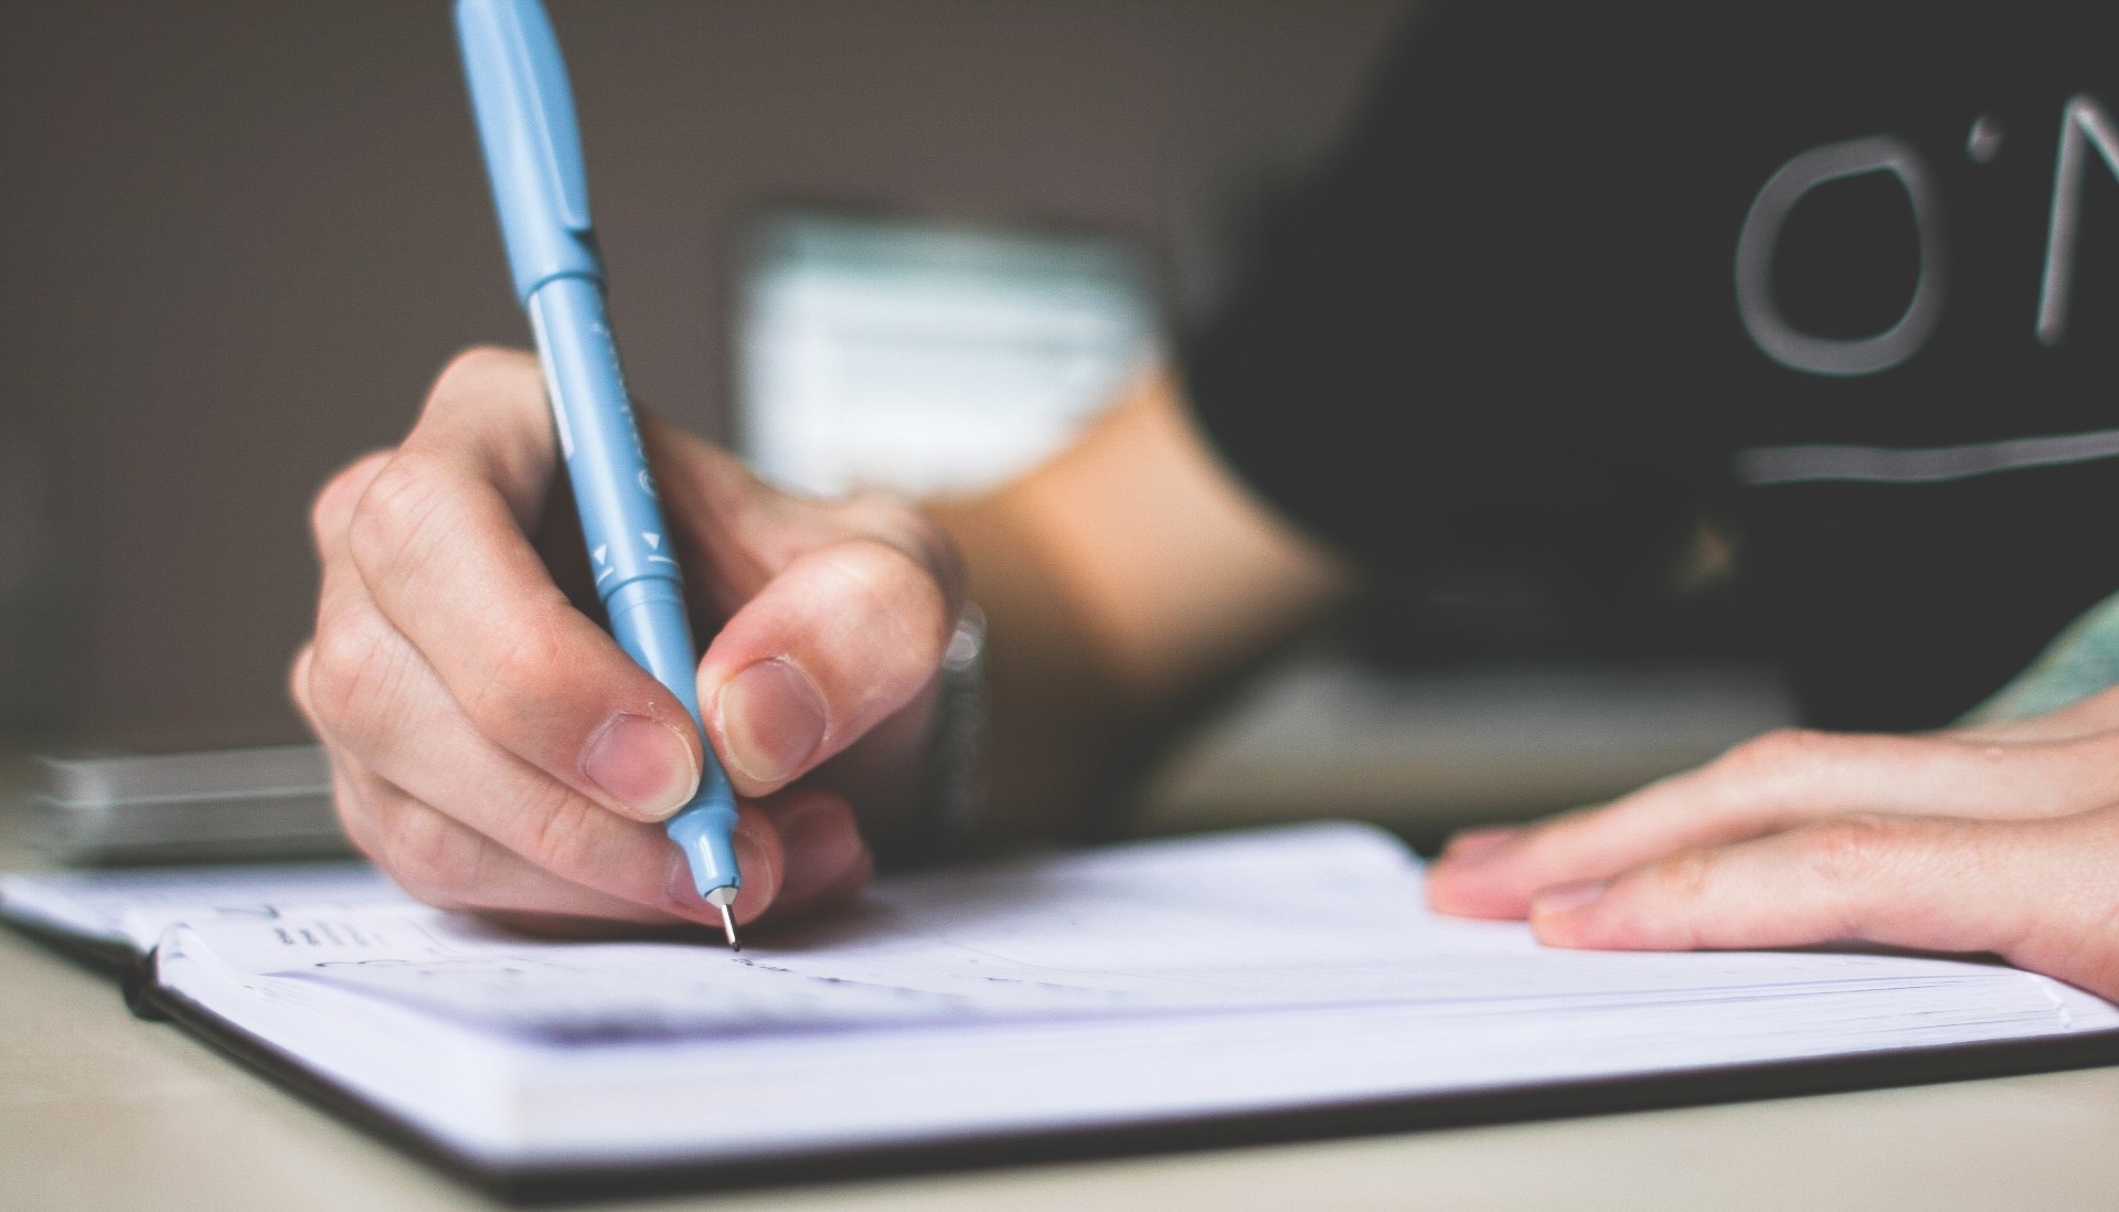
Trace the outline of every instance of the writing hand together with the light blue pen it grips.
<instances>
[{"instance_id":1,"label":"writing hand together with the light blue pen it grips","mask_svg":"<svg viewBox=\"0 0 2119 1212\"><path fill-rule=\"evenodd\" d=\"M850 765L871 782L915 761L960 574L905 506L780 498L636 422L542 6L462 0L458 28L542 381L534 362L466 356L398 451L326 485L295 697L333 752L348 833L411 892L559 917L706 909L735 945L740 917L867 877L843 799L782 788L869 733L882 761ZM555 456L578 511L574 600L612 636L523 542ZM716 629L693 670L693 634ZM733 792L780 801L740 816ZM665 822L676 845L621 816Z\"/></svg>"}]
</instances>

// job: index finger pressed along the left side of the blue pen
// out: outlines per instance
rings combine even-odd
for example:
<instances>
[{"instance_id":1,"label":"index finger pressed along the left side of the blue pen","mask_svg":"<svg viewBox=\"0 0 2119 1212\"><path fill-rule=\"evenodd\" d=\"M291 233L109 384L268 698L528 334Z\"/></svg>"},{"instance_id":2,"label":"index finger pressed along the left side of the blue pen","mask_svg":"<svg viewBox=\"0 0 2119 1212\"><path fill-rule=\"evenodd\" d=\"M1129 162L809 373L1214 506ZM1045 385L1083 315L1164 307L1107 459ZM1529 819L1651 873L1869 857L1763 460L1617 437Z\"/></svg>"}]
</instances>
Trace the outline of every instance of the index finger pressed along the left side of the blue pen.
<instances>
[{"instance_id":1,"label":"index finger pressed along the left side of the blue pen","mask_svg":"<svg viewBox=\"0 0 2119 1212\"><path fill-rule=\"evenodd\" d=\"M464 354L356 504L348 555L479 733L604 807L663 820L697 788L697 725L530 545L555 464L536 358Z\"/></svg>"}]
</instances>

